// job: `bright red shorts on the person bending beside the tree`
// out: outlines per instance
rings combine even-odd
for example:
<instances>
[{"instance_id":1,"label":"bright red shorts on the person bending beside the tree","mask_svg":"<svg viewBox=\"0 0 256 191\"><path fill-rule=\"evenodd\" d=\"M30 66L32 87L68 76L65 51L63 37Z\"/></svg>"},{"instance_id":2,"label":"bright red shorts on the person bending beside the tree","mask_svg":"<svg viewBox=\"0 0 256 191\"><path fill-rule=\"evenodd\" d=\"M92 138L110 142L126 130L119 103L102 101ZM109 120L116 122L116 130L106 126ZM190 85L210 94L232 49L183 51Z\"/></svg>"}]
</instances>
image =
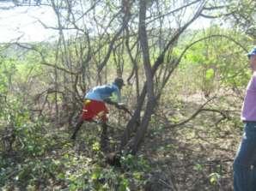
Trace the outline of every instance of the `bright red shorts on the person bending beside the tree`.
<instances>
[{"instance_id":1,"label":"bright red shorts on the person bending beside the tree","mask_svg":"<svg viewBox=\"0 0 256 191\"><path fill-rule=\"evenodd\" d=\"M85 99L80 117L84 121L101 119L102 122L107 122L107 113L108 110L104 102Z\"/></svg>"}]
</instances>

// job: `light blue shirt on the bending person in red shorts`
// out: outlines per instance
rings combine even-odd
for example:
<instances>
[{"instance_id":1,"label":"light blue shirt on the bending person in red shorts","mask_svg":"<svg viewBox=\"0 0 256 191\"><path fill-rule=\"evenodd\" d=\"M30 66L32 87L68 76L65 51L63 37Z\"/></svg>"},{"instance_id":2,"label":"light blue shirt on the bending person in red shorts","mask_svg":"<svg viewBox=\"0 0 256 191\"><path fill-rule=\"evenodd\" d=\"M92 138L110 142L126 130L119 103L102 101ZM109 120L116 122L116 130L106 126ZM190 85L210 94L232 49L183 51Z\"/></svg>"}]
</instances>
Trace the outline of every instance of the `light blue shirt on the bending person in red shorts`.
<instances>
[{"instance_id":1,"label":"light blue shirt on the bending person in red shorts","mask_svg":"<svg viewBox=\"0 0 256 191\"><path fill-rule=\"evenodd\" d=\"M119 87L117 87L114 83L107 84L99 87L94 87L89 90L89 92L84 96L84 98L104 101L106 98L111 98L113 102L120 103L121 95Z\"/></svg>"}]
</instances>

